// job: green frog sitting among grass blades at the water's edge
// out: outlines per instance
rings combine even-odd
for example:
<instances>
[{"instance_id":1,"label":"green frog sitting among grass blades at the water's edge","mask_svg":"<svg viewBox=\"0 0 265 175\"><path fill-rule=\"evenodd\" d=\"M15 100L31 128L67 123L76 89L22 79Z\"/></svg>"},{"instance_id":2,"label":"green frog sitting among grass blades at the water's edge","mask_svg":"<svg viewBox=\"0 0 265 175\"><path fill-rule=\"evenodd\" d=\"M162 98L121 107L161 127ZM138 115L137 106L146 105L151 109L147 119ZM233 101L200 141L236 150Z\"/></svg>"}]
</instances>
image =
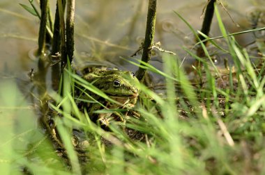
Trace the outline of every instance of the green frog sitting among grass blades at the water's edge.
<instances>
[{"instance_id":1,"label":"green frog sitting among grass blades at the water's edge","mask_svg":"<svg viewBox=\"0 0 265 175\"><path fill-rule=\"evenodd\" d=\"M91 103L77 100L77 105L80 109L86 108L93 122L100 121L101 124L107 126L111 119L116 119L119 116L116 112L94 113L96 110L104 108L130 109L137 102L139 95L137 84L139 84L139 81L133 72L93 68L89 70L89 73L84 74L82 78L117 102L108 101L89 90L79 91L77 93L79 95L78 99L86 99L91 101Z\"/></svg>"}]
</instances>

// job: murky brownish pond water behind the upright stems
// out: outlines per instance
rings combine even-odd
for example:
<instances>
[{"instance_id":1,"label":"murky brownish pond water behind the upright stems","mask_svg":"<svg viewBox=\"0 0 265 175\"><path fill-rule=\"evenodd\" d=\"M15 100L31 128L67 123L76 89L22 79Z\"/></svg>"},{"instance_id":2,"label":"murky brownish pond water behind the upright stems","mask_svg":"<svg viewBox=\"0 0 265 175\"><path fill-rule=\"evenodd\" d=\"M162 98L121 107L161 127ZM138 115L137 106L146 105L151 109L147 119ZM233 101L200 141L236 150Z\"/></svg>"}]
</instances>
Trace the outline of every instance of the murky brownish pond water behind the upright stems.
<instances>
[{"instance_id":1,"label":"murky brownish pond water behind the upright stems","mask_svg":"<svg viewBox=\"0 0 265 175\"><path fill-rule=\"evenodd\" d=\"M38 69L38 61L33 56L38 46L37 17L29 14L19 3L27 6L28 1L2 0L0 3L0 77L14 78L22 90L28 90L31 70ZM229 33L252 28L248 21L248 14L254 8L264 5L264 1L234 0L222 1L226 10L219 5L223 22ZM179 12L195 30L202 25L202 10L205 0L189 1L158 1L156 20L156 42L162 43L162 48L178 53L183 60L186 53L182 47L194 44L194 38L188 26L177 17ZM54 2L52 6L54 14ZM76 1L75 5L75 63L94 63L107 60L120 69L133 72L137 67L126 63L123 58L130 58L144 40L146 26L146 11L148 1ZM236 26L239 24L240 27ZM213 19L211 36L220 35L216 19ZM236 36L241 45L254 40L252 33ZM135 58L141 58L137 54ZM193 58L187 58L183 65L190 65ZM162 69L160 54L156 53L151 64ZM50 81L50 73L45 78ZM2 83L1 83L2 84ZM26 85L26 87L24 87Z\"/></svg>"}]
</instances>

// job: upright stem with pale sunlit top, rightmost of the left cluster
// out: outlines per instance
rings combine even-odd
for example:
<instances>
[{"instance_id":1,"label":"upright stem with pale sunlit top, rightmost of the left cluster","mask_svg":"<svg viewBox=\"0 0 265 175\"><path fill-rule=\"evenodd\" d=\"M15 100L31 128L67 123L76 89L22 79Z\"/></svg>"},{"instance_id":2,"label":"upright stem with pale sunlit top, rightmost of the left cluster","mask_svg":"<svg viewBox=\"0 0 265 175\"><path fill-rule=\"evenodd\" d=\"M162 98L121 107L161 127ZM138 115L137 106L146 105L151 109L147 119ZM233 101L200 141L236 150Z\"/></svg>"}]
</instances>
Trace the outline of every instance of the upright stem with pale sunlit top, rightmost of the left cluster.
<instances>
[{"instance_id":1,"label":"upright stem with pale sunlit top, rightmost of the left cluster","mask_svg":"<svg viewBox=\"0 0 265 175\"><path fill-rule=\"evenodd\" d=\"M75 24L75 0L68 0L66 12L66 51L69 61L73 60L74 54L74 24Z\"/></svg>"}]
</instances>

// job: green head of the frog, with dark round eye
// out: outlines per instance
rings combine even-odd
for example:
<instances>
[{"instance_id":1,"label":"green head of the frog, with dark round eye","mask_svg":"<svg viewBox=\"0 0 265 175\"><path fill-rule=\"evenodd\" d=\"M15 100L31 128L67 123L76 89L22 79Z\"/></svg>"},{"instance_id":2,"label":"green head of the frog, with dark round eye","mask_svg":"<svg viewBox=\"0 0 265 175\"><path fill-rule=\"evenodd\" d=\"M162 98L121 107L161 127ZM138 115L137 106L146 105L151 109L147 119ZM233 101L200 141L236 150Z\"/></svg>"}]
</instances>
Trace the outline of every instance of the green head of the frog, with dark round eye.
<instances>
[{"instance_id":1,"label":"green head of the frog, with dark round eye","mask_svg":"<svg viewBox=\"0 0 265 175\"><path fill-rule=\"evenodd\" d=\"M110 97L134 99L139 95L139 90L137 88L139 81L133 72L108 70L97 72L93 75L95 77L89 78L92 80L90 82ZM86 79L88 80L88 78Z\"/></svg>"}]
</instances>

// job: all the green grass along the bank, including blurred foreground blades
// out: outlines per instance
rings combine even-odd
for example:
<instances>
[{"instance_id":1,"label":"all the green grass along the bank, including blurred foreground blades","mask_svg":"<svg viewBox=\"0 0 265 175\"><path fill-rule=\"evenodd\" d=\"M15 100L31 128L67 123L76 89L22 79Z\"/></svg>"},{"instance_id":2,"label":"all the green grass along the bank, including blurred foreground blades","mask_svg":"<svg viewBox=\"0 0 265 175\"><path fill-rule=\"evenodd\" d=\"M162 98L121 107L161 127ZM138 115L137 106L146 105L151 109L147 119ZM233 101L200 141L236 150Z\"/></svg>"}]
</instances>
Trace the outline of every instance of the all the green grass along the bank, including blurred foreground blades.
<instances>
[{"instance_id":1,"label":"all the green grass along the bank, including blurred foreground blades","mask_svg":"<svg viewBox=\"0 0 265 175\"><path fill-rule=\"evenodd\" d=\"M63 72L63 93L47 92L54 100L49 107L58 142L51 142L54 138L37 126L35 110L15 83L1 81L0 119L7 122L0 127L1 173L265 174L264 64L254 65L234 36L227 35L217 8L215 15L228 50L211 38L206 40L232 57L236 72L229 67L227 79L220 75L201 40L208 60L184 49L204 66L195 68L203 84L190 83L176 56L168 53L162 56L164 72L139 61L139 67L165 77L165 94L160 96L140 84L141 94L133 109L139 119L116 110L124 120L112 121L108 130L92 122L86 110L79 110L75 85L109 97L71 69ZM82 131L88 141L86 151L75 150L73 128ZM128 130L137 131L139 137L130 137Z\"/></svg>"}]
</instances>

